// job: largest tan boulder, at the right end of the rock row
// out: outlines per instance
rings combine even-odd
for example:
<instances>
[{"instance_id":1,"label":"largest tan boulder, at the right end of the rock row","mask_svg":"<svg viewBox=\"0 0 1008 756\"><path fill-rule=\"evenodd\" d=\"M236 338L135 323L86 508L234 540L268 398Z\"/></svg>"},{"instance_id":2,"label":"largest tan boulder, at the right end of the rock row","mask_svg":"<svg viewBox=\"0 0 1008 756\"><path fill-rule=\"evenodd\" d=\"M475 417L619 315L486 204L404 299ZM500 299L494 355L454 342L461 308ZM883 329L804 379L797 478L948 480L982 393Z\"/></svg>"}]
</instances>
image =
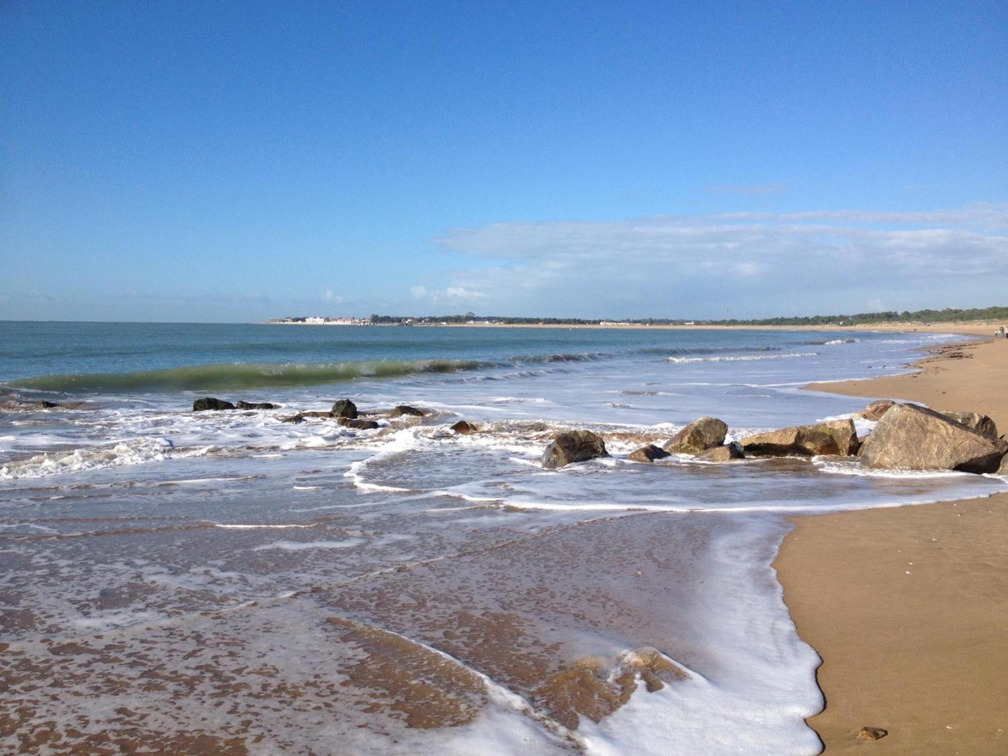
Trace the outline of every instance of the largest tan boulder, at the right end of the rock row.
<instances>
[{"instance_id":1,"label":"largest tan boulder, at the right end of the rock row","mask_svg":"<svg viewBox=\"0 0 1008 756\"><path fill-rule=\"evenodd\" d=\"M956 422L932 409L897 404L865 442L861 464L867 468L960 470L993 473L1008 443Z\"/></svg>"}]
</instances>

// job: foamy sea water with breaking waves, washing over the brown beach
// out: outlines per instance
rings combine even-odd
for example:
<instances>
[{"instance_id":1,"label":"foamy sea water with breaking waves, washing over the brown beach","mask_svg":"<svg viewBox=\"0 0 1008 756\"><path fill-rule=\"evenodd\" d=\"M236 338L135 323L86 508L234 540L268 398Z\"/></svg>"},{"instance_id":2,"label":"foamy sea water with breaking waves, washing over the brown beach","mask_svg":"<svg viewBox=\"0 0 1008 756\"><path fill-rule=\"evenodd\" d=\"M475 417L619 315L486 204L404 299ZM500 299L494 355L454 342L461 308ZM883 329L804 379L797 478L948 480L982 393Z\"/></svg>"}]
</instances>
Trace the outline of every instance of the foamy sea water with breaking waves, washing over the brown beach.
<instances>
[{"instance_id":1,"label":"foamy sea water with breaking waves, washing over the brown beach","mask_svg":"<svg viewBox=\"0 0 1008 756\"><path fill-rule=\"evenodd\" d=\"M625 456L703 414L847 416L867 400L800 386L951 338L0 324L0 747L817 753L786 515L1004 482ZM380 427L282 421L345 397ZM542 470L582 427L612 457Z\"/></svg>"}]
</instances>

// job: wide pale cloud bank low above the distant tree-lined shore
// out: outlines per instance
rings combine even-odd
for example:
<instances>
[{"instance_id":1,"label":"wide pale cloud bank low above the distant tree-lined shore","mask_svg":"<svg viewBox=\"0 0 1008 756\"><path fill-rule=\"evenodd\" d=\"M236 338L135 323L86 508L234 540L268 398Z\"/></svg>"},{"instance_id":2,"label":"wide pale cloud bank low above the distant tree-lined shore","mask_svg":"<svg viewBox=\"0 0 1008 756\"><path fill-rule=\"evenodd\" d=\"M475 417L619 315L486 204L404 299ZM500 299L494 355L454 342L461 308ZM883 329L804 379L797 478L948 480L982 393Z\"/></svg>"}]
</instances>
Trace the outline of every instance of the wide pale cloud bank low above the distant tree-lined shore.
<instances>
[{"instance_id":1,"label":"wide pale cloud bank low above the distant tree-lined shore","mask_svg":"<svg viewBox=\"0 0 1008 756\"><path fill-rule=\"evenodd\" d=\"M434 301L499 313L714 317L1002 303L1008 205L497 223L438 246L493 261L448 275ZM736 307L735 300L740 306Z\"/></svg>"}]
</instances>

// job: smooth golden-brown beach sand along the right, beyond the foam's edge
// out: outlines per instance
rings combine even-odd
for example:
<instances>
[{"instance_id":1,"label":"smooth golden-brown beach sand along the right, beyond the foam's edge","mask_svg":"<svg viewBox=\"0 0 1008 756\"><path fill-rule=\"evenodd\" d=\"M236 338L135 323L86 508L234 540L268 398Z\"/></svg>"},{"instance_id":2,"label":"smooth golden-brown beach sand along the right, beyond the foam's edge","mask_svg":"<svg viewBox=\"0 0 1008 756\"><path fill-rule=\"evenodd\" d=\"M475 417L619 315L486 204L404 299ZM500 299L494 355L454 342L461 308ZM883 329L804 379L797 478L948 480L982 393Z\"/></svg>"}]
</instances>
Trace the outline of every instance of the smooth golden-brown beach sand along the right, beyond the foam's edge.
<instances>
[{"instance_id":1,"label":"smooth golden-brown beach sand along the right, beyond the foam's edge","mask_svg":"<svg viewBox=\"0 0 1008 756\"><path fill-rule=\"evenodd\" d=\"M920 367L810 388L972 409L1008 429L1008 341L942 348ZM775 566L824 659L827 706L809 725L826 752L1008 754L1008 493L793 522ZM864 726L889 734L859 740Z\"/></svg>"}]
</instances>

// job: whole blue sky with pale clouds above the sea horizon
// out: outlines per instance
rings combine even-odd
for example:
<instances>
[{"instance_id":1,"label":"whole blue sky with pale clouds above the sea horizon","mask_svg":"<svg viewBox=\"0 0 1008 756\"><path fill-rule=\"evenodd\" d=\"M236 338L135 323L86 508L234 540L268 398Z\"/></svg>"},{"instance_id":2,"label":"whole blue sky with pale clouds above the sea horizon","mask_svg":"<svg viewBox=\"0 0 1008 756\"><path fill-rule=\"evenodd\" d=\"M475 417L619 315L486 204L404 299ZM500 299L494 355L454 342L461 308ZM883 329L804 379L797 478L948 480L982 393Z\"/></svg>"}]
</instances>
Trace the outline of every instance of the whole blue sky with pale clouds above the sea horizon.
<instances>
[{"instance_id":1,"label":"whole blue sky with pale clouds above the sea horizon","mask_svg":"<svg viewBox=\"0 0 1008 756\"><path fill-rule=\"evenodd\" d=\"M1003 2L0 3L0 319L1008 304Z\"/></svg>"}]
</instances>

